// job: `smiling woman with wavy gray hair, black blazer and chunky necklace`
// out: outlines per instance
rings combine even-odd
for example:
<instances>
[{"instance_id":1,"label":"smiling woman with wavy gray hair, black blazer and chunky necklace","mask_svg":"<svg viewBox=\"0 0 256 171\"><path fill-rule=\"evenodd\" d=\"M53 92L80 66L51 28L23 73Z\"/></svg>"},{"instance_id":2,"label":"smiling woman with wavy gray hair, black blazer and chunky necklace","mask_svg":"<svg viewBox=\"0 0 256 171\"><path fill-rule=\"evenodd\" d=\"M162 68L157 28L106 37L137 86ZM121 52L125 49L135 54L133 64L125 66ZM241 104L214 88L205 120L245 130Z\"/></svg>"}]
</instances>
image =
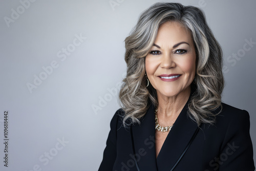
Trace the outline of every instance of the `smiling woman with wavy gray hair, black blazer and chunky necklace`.
<instances>
[{"instance_id":1,"label":"smiling woman with wavy gray hair, black blazer and chunky necklace","mask_svg":"<svg viewBox=\"0 0 256 171\"><path fill-rule=\"evenodd\" d=\"M99 170L254 170L249 114L221 102L222 51L203 12L145 10Z\"/></svg>"}]
</instances>

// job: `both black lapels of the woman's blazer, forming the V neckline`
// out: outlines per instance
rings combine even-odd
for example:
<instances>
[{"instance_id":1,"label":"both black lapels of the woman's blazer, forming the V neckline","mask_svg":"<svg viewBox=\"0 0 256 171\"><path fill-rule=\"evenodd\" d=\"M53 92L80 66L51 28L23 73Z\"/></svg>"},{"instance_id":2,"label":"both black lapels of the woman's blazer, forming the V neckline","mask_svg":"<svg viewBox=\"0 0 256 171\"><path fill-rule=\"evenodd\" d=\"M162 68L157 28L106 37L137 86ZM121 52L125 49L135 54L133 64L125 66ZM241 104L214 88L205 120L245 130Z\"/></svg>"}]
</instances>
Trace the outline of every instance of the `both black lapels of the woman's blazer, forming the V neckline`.
<instances>
[{"instance_id":1,"label":"both black lapels of the woman's blazer, forming the V neckline","mask_svg":"<svg viewBox=\"0 0 256 171\"><path fill-rule=\"evenodd\" d=\"M141 170L170 170L197 129L197 123L187 116L188 102L169 131L156 159L155 107L151 105L140 125L133 126L135 153ZM143 152L143 153L142 153Z\"/></svg>"}]
</instances>

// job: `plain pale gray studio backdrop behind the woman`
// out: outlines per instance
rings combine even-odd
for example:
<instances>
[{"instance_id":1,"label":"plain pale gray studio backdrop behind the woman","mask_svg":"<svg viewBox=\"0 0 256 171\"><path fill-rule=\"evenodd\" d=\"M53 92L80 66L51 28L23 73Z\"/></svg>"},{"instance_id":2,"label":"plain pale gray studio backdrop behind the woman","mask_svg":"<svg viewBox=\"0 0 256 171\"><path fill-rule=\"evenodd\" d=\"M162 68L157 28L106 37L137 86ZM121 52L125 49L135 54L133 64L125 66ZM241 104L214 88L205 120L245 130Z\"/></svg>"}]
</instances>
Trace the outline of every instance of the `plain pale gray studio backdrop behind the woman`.
<instances>
[{"instance_id":1,"label":"plain pale gray studio backdrop behind the woman","mask_svg":"<svg viewBox=\"0 0 256 171\"><path fill-rule=\"evenodd\" d=\"M37 0L26 8L22 2L28 1L0 5L0 170L97 170L119 109L115 91L126 70L123 40L139 14L158 1L113 0L112 7L109 0ZM249 112L255 154L256 45L245 44L256 41L256 1L179 2L204 10L223 48L223 101ZM15 18L9 27L7 17ZM79 35L86 39L79 43ZM62 48L69 49L67 58ZM54 61L57 68L48 67L44 75L42 67ZM30 92L27 84L40 74L45 79ZM9 112L8 168L2 161L4 111Z\"/></svg>"}]
</instances>

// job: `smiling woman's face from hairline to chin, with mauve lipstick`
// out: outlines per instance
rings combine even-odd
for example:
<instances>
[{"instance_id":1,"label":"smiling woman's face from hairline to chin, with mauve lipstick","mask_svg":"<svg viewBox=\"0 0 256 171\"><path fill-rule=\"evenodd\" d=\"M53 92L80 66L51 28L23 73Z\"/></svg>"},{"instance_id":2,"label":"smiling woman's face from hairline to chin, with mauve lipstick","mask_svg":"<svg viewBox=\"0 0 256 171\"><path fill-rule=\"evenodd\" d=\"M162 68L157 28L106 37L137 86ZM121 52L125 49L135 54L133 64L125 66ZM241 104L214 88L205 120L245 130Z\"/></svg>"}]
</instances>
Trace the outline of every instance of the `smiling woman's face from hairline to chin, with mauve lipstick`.
<instances>
[{"instance_id":1,"label":"smiling woman's face from hairline to chin, with mauve lipstick","mask_svg":"<svg viewBox=\"0 0 256 171\"><path fill-rule=\"evenodd\" d=\"M176 22L164 23L145 59L146 74L158 96L175 97L190 92L196 72L193 39Z\"/></svg>"}]
</instances>

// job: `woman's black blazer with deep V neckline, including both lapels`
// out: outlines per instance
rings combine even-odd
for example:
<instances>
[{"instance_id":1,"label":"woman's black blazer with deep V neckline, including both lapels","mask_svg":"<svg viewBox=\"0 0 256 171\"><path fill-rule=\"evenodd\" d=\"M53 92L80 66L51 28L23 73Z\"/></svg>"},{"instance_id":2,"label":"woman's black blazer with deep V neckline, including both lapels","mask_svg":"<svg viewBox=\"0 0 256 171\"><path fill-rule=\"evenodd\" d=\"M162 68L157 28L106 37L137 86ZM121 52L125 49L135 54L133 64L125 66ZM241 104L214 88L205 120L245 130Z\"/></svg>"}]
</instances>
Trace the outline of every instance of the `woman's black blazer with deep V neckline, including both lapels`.
<instances>
[{"instance_id":1,"label":"woman's black blazer with deep V neckline, including both lapels","mask_svg":"<svg viewBox=\"0 0 256 171\"><path fill-rule=\"evenodd\" d=\"M187 103L168 133L157 158L154 106L150 106L140 125L132 126L132 132L123 127L121 116L124 112L119 109L111 120L111 131L99 170L137 171L133 145L140 171L172 169L198 127L187 116ZM222 112L214 125L201 124L201 129L174 170L255 169L248 112L225 103L222 106Z\"/></svg>"}]
</instances>

